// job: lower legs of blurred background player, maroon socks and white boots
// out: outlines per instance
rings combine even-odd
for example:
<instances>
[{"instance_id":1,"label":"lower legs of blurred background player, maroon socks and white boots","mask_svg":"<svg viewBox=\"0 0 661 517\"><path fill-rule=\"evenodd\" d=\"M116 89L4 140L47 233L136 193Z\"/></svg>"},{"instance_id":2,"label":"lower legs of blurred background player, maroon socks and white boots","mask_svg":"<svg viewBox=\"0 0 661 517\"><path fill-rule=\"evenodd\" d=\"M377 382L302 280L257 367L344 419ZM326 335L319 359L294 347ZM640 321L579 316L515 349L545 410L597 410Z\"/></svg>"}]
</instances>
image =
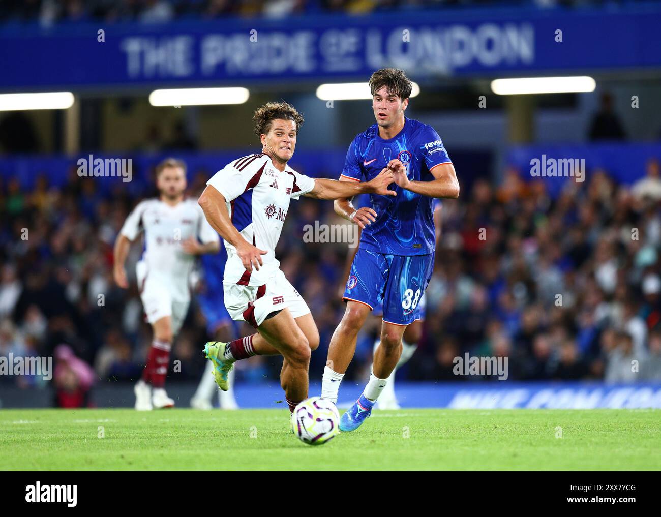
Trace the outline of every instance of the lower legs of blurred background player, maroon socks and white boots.
<instances>
[{"instance_id":1,"label":"lower legs of blurred background player, maroon socks and white boots","mask_svg":"<svg viewBox=\"0 0 661 517\"><path fill-rule=\"evenodd\" d=\"M134 387L136 409L139 411L175 405L175 401L165 393L165 376L173 342L172 319L170 316L164 316L155 321L151 328L154 337L147 355L147 364L141 380Z\"/></svg>"}]
</instances>

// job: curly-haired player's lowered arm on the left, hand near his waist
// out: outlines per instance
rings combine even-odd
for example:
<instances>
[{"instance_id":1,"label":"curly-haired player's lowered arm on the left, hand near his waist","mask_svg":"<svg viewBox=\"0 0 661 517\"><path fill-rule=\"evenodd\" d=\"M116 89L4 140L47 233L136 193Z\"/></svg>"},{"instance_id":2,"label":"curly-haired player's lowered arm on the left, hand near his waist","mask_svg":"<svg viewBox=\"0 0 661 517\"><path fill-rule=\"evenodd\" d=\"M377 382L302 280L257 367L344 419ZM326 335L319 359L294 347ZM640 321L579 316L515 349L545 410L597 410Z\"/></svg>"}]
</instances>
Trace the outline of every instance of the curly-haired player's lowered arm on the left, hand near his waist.
<instances>
[{"instance_id":1,"label":"curly-haired player's lowered arm on the left, hand near his waist","mask_svg":"<svg viewBox=\"0 0 661 517\"><path fill-rule=\"evenodd\" d=\"M211 185L207 185L202 192L202 196L198 200L198 204L204 211L204 216L215 231L219 233L225 241L233 245L237 249L237 255L241 258L243 267L250 272L253 272L253 267L259 270L259 266L263 265L262 255L266 255L268 251L259 249L243 238L241 233L232 224L227 212L227 201L225 196L215 190Z\"/></svg>"}]
</instances>

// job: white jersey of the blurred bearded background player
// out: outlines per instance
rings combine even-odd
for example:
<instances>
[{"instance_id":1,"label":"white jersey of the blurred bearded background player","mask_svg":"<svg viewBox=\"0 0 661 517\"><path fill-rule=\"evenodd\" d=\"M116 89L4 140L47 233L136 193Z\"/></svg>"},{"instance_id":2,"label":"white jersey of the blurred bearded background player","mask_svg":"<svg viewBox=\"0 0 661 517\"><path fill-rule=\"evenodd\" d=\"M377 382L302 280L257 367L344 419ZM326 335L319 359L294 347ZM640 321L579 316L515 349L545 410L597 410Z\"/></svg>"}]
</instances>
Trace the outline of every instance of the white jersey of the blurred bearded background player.
<instances>
[{"instance_id":1,"label":"white jersey of the blurred bearded background player","mask_svg":"<svg viewBox=\"0 0 661 517\"><path fill-rule=\"evenodd\" d=\"M175 206L155 198L140 202L124 221L120 233L134 241L141 231L145 232L142 261L147 274L162 277L177 290L179 298L188 296L196 256L184 252L182 243L190 237L204 244L219 241L197 201L184 199Z\"/></svg>"}]
</instances>

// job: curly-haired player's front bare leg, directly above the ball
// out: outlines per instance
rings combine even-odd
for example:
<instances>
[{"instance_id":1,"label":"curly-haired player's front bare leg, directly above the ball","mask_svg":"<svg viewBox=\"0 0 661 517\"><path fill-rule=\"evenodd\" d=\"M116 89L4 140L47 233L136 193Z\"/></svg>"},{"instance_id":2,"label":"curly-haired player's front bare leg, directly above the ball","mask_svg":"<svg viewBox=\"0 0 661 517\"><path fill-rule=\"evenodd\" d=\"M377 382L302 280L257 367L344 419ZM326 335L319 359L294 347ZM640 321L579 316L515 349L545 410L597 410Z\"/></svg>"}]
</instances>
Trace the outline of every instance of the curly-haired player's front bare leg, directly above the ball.
<instances>
[{"instance_id":1,"label":"curly-haired player's front bare leg, directly above the ball","mask_svg":"<svg viewBox=\"0 0 661 517\"><path fill-rule=\"evenodd\" d=\"M306 317L312 319L309 314L299 318L305 319L304 326L307 322ZM312 324L314 325L314 322ZM286 365L280 375L280 385L285 391L290 411L293 411L299 402L307 399L309 387L307 372L310 366L311 344L315 344L315 342L311 343L305 337L305 333L297 325L297 321L293 319L289 309L283 309L274 317L264 320L258 331L284 357ZM316 326L315 334L318 346L319 337Z\"/></svg>"}]
</instances>

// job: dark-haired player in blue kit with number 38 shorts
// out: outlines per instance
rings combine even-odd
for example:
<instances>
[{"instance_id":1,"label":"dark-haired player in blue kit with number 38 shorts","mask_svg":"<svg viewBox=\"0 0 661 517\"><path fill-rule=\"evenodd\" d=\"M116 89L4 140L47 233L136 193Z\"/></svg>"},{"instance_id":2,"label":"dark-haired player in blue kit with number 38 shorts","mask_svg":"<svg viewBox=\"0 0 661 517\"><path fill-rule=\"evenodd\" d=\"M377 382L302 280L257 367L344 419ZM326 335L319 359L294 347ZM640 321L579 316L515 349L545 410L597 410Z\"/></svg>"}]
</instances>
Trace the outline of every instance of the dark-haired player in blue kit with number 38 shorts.
<instances>
[{"instance_id":1,"label":"dark-haired player in blue kit with number 38 shorts","mask_svg":"<svg viewBox=\"0 0 661 517\"><path fill-rule=\"evenodd\" d=\"M418 302L434 268L434 198L459 196L457 175L438 133L405 116L412 83L404 71L375 71L369 88L376 124L354 138L340 179L371 180L383 167L395 167L389 188L397 195L371 196L371 208L359 210L348 199L334 202L335 212L360 225L362 235L342 297L346 311L329 346L321 387L325 399L337 402L358 332L369 312L383 305L371 375L358 401L340 418L342 431L358 428L369 417L399 361L404 331L420 317Z\"/></svg>"}]
</instances>

